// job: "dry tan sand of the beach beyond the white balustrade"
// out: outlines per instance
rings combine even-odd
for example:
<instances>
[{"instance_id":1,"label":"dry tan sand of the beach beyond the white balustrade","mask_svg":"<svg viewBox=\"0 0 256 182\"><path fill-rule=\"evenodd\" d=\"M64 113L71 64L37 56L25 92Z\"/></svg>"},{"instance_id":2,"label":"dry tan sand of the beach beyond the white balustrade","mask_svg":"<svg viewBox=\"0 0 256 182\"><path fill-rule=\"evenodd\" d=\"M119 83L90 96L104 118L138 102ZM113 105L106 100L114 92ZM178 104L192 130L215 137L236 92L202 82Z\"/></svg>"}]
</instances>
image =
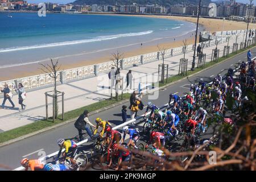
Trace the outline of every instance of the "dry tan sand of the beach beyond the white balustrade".
<instances>
[{"instance_id":1,"label":"dry tan sand of the beach beyond the white balustrade","mask_svg":"<svg viewBox=\"0 0 256 182\"><path fill-rule=\"evenodd\" d=\"M115 16L115 15L113 15ZM145 16L150 18L166 18L166 19L174 19L174 20L184 20L192 23L196 23L196 18L192 17L185 17L185 16L158 16L158 15L122 15L122 16ZM222 31L222 19L207 19L207 18L200 18L199 21L201 28L200 31ZM249 28L256 28L256 24L249 24ZM246 29L246 23L245 22L234 22L225 20L224 21L224 30L243 30ZM150 53L150 52L156 52L158 51L157 45L164 48L174 48L174 47L180 47L183 46L183 39L187 39L188 44L193 44L195 42L195 32L191 32L190 34L186 36L180 36L180 38L177 38L176 40L170 39L167 41L162 41L162 43L151 43L151 44L143 44L143 46L134 46L133 48L125 49L123 48L124 57L131 57L131 56L137 56L142 55L144 53ZM197 40L198 41L198 40ZM83 61L75 61L75 63L72 62L72 58L69 58L63 62L61 62L61 69L71 69L76 67L82 67L86 65L92 65L92 64L98 64L98 63L104 63L106 61L109 61L111 58L111 54L106 53L105 55L98 55L94 56L95 58L92 58L90 60L83 60ZM40 66L38 64L27 64L17 67L10 67L10 68L1 68L0 73L0 81L5 80L11 80L14 78L19 77L27 77L27 76L33 76L33 75L39 75L43 72L40 71Z\"/></svg>"}]
</instances>

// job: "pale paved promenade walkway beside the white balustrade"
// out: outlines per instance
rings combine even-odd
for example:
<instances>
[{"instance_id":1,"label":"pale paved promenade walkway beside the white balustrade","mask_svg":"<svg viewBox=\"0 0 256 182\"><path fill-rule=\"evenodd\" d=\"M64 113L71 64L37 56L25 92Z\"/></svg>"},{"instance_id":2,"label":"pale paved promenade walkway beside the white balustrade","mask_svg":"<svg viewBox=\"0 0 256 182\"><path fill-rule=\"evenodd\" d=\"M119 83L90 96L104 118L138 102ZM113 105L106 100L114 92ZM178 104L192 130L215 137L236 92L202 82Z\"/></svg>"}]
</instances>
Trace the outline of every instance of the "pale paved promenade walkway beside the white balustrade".
<instances>
[{"instance_id":1,"label":"pale paved promenade walkway beside the white balustrade","mask_svg":"<svg viewBox=\"0 0 256 182\"><path fill-rule=\"evenodd\" d=\"M242 42L243 35L238 38L238 49L240 47L240 42ZM232 52L233 43L236 42L235 36L230 39L230 53ZM222 57L224 46L227 43L220 43L218 48L220 49L220 57ZM182 45L181 45L182 46ZM212 49L214 46L205 47L204 53L207 54L206 62L209 62L212 56ZM186 58L188 59L188 69L192 66L192 56L193 52L186 53ZM169 57L165 59L165 64L169 65L168 75L177 75L179 71L179 60L183 55L177 55L174 57ZM245 58L246 59L246 58ZM197 61L197 59L196 59ZM135 78L133 83L133 89L126 92L133 92L134 89L138 89L139 82L142 84L142 88L150 84L150 82L158 81L158 64L161 64L162 60L152 61L151 63L138 65L136 67L129 68L133 77ZM126 77L126 73L129 69L123 69L121 71L121 76ZM221 71L220 71L221 72ZM150 76L147 76L150 75ZM146 80L147 76L147 80ZM216 75L214 75L216 76ZM213 77L209 75L209 77ZM126 82L123 84L126 86ZM97 77L86 78L84 80L73 81L67 84L62 84L57 86L57 90L64 92L65 95L65 112L74 110L86 105L93 104L95 102L105 100L110 97L110 80L108 74L99 75ZM18 107L18 96L13 97L15 108L0 110L0 133L3 131L15 129L16 127L24 126L32 122L36 122L40 119L46 117L46 107L45 107L45 92L53 90L53 88L43 88L31 92L27 92L27 99L24 104L27 105L26 110L19 111ZM114 90L113 90L114 93ZM0 101L2 103L2 99ZM52 101L49 101L49 116L52 114ZM6 106L11 106L9 101L6 101ZM59 110L61 111L61 102L59 103ZM120 107L121 110L121 107Z\"/></svg>"}]
</instances>

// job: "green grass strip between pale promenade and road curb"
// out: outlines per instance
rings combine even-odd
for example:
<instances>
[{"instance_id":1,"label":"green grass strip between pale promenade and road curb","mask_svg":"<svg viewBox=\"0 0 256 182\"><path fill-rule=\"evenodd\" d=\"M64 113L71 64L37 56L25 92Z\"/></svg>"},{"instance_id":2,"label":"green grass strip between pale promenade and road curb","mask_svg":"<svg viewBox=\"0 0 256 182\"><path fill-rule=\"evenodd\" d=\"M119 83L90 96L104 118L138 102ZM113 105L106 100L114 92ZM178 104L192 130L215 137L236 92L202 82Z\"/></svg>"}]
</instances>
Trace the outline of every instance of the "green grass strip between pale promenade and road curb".
<instances>
[{"instance_id":1,"label":"green grass strip between pale promenade and road curb","mask_svg":"<svg viewBox=\"0 0 256 182\"><path fill-rule=\"evenodd\" d=\"M229 57L237 55L238 53L241 53L243 51L247 51L248 49L253 48L253 47L254 46L250 46L250 47L247 47L246 49L237 51L236 53L230 53L227 57L220 57L219 60L218 60L218 63L228 59ZM214 64L216 64L216 63L214 63L214 62L205 63L204 68L208 68L208 67L210 67L211 65L214 65ZM199 72L201 70L202 70L202 68L195 68L195 71L188 71L186 76L176 75L176 76L169 77L169 78L167 78L167 83L166 83L166 80L165 80L164 84L162 82L159 82L159 87L164 86L166 84L169 84L171 82L180 80L181 78L187 77L187 76L189 76L193 73ZM154 86L154 84L152 84L152 86ZM130 98L129 93L123 94L123 100L129 99L129 98ZM121 96L119 96L119 101L121 101ZM81 107L79 109L68 111L68 112L65 113L64 121L68 121L69 119L75 119L75 118L79 117L79 115L85 109L87 109L89 112L92 112L94 110L98 110L98 109L101 109L103 107L116 104L119 101L116 101L115 98L114 98L113 100L104 100L104 101L96 102L96 103L88 105L88 106ZM60 117L61 117L61 115L59 115L59 118ZM50 127L50 126L56 125L56 124L64 122L64 121L61 120L61 119L56 119L55 122L53 123L52 121L40 120L40 121L31 123L29 125L26 125L26 126L21 126L21 127L16 128L16 129L13 129L13 130L5 131L3 133L0 133L0 143L7 142L8 140L15 139L15 138L21 137L23 135L33 133L33 132L38 131L38 130L42 130L46 127Z\"/></svg>"}]
</instances>

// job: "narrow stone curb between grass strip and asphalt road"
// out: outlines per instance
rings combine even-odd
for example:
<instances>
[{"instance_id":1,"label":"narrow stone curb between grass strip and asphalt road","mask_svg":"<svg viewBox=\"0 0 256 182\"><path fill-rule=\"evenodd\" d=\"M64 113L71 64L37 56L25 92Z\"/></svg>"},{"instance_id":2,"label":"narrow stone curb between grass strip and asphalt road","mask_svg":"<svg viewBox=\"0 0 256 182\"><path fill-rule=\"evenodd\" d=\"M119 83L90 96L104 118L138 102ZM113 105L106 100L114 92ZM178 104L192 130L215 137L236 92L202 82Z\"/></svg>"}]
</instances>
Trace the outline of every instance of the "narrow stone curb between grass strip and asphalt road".
<instances>
[{"instance_id":1,"label":"narrow stone curb between grass strip and asphalt road","mask_svg":"<svg viewBox=\"0 0 256 182\"><path fill-rule=\"evenodd\" d=\"M255 48L255 47L256 47L256 46L251 47L251 48ZM245 50L245 51L246 51L246 50ZM216 64L213 64L213 65L211 65L210 67L205 68L205 69L202 69L201 71L198 71L198 72L196 72L196 73L193 73L193 74L191 74L191 75L189 75L189 76L187 76L187 77L181 78L181 79L176 80L176 81L174 81L174 82L170 82L170 84L161 86L161 87L156 88L156 89L152 89L152 90L150 90L149 92L144 93L143 96L147 96L148 94L150 94L150 93L152 93L152 92L156 92L156 91L158 91L158 90L160 90L160 89L167 88L168 86L171 86L171 85L173 85L173 84L176 84L176 83L179 82L179 81L183 81L183 80L185 80L185 79L187 79L187 78L189 78L189 77L193 77L193 76L195 76L195 75L198 75L199 73L204 72L204 71L207 71L208 69L213 68L213 67L215 67L216 65L219 65L219 64L221 64L221 63L224 63L225 61L228 61L228 60L232 59L233 57L236 57L236 56L238 56L238 55L241 55L241 54L244 53L245 51L243 51L243 52L241 52L241 53L238 53L237 55L234 55L234 56L232 56L232 57L228 57L228 59L226 59L226 60L224 60L224 61L220 61L220 62L218 62L218 63L216 63ZM210 63L210 62L209 62L209 63ZM98 109L98 110L92 111L92 112L90 112L89 115L93 115L93 114L96 114L96 113L100 113L101 111L108 110L108 109L110 109L111 107L115 107L115 106L121 105L121 104L123 104L123 103L125 103L125 102L127 102L127 101L129 101L129 99L120 101L120 102L118 102L118 103L116 103L116 104L113 104L113 105L110 105L110 106L106 106L106 107L104 107L104 108L102 108L102 109ZM34 136L34 135L39 135L39 134L44 133L44 132L46 132L46 131L50 131L50 130L56 129L57 127L67 125L68 123L75 122L75 121L76 121L76 119L69 119L68 121L61 122L61 123L59 123L59 124L57 124L57 125L49 126L49 127L46 127L45 129L38 130L38 131L35 131L35 132L30 133L30 134L27 134L27 135L23 135L22 137L18 137L18 138L15 138L15 139L11 139L11 140L9 140L9 141L7 141L7 142L1 143L1 144L0 144L0 147L8 146L9 144L18 142L18 141L20 141L20 140L22 140L22 139L26 139L26 138L32 137L32 136Z\"/></svg>"}]
</instances>

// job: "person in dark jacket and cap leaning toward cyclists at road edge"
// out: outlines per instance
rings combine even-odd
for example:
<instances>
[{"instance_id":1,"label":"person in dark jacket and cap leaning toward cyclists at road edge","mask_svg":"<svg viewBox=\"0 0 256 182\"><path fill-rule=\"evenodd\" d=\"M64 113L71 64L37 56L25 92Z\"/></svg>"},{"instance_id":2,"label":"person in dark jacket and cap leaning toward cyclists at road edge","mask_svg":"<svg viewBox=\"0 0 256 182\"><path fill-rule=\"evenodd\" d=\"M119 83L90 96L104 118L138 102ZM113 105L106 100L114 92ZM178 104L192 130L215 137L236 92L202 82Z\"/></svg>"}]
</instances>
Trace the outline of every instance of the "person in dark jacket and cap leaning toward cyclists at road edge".
<instances>
[{"instance_id":1,"label":"person in dark jacket and cap leaning toward cyclists at road edge","mask_svg":"<svg viewBox=\"0 0 256 182\"><path fill-rule=\"evenodd\" d=\"M90 139L92 138L92 131L89 129L89 127L86 127L86 124L88 123L90 126L96 128L96 126L94 126L88 119L88 110L84 110L84 113L82 113L80 115L79 118L77 118L76 122L75 122L75 127L76 129L79 131L79 139L83 140L84 138L82 138L82 130L86 130L86 132L88 133Z\"/></svg>"}]
</instances>

